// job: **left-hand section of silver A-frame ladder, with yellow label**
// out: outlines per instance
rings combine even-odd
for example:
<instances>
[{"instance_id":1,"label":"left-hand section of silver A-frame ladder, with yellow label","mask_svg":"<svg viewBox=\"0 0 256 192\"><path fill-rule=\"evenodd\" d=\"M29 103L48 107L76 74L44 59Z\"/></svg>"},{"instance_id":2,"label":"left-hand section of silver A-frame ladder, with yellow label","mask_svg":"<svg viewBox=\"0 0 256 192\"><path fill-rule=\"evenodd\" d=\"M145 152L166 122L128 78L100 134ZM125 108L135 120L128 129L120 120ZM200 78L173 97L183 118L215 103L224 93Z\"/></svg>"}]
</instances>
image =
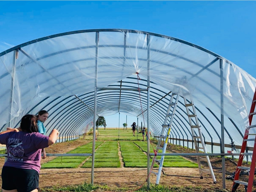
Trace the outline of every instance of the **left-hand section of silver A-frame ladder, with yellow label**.
<instances>
[{"instance_id":1,"label":"left-hand section of silver A-frame ladder, with yellow label","mask_svg":"<svg viewBox=\"0 0 256 192\"><path fill-rule=\"evenodd\" d=\"M156 147L157 153L158 153L159 150L162 150L162 153L165 153L165 151L166 151L166 147L167 147L167 143L168 143L168 139L169 139L169 134L170 134L171 127L172 127L172 121L173 121L173 117L175 115L175 111L176 111L176 107L177 107L177 104L178 104L178 101L179 101L179 97L180 97L180 94L176 94L176 93L172 92L169 107L167 109L167 113L166 113L166 116L165 116L165 119L164 119L164 124L162 125L163 126L162 132L161 132L161 135L159 137L158 144L157 144L157 147ZM171 108L172 108L172 111L171 111ZM162 139L164 139L164 146L163 147L161 147ZM156 185L158 185L159 181L160 181L160 177L161 177L163 164L164 164L164 156L161 156L161 160L156 159L155 162L159 163L158 171L157 172L152 171L151 173L156 174L156 176L157 176L156 177ZM152 161L150 170L153 169L155 162Z\"/></svg>"}]
</instances>

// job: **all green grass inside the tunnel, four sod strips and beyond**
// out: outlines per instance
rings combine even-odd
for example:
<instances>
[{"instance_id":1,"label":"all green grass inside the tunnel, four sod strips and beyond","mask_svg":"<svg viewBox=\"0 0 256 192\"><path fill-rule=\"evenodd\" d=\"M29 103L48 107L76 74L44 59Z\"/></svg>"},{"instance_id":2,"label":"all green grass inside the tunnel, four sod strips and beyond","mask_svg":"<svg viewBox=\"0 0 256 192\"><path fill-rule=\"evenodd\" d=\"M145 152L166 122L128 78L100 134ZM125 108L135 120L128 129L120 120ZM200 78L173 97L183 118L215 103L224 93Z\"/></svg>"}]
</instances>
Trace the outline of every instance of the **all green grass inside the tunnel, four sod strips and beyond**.
<instances>
[{"instance_id":1,"label":"all green grass inside the tunnel, four sod strips and beyond","mask_svg":"<svg viewBox=\"0 0 256 192\"><path fill-rule=\"evenodd\" d=\"M99 133L102 134L98 137L98 140L95 142L95 158L94 158L94 167L120 167L121 161L124 163L124 167L147 167L147 142L141 141L142 134L140 137L131 136L132 130L122 130L122 138L120 138L119 130L119 141L118 139L118 129L100 129ZM125 136L127 134L127 136ZM139 135L138 134L138 135ZM105 136L106 135L106 136ZM109 136L108 136L109 135ZM117 138L116 138L117 135ZM104 136L104 137L103 137ZM100 140L100 138L102 140ZM106 141L103 141L103 138ZM86 139L91 139L92 136L87 136ZM113 139L113 140L111 140ZM146 139L146 138L145 138ZM118 155L118 147L120 146L121 157ZM154 148L156 145L153 144ZM159 151L161 152L161 151ZM92 153L92 142L80 146L68 153ZM150 147L150 153L154 153L154 149ZM157 157L160 159L161 157ZM151 158L152 161L152 158ZM154 167L158 165L155 164ZM181 156L165 156L164 158L164 167L198 167L196 163L190 162L184 159ZM42 168L77 168L92 167L92 157L91 156L64 156L57 157L50 162L42 164Z\"/></svg>"}]
</instances>

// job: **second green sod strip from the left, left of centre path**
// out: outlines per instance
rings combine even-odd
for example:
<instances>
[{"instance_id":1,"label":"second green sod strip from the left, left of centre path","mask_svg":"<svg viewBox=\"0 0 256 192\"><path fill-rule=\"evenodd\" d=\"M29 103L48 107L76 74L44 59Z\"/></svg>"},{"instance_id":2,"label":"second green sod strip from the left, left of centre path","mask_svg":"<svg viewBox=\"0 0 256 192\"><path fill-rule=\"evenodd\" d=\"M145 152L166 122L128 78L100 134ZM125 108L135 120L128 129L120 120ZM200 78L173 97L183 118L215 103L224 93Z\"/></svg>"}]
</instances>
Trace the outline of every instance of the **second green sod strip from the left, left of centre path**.
<instances>
[{"instance_id":1,"label":"second green sod strip from the left, left of centre path","mask_svg":"<svg viewBox=\"0 0 256 192\"><path fill-rule=\"evenodd\" d=\"M92 167L92 158L88 159L82 167ZM117 141L106 141L100 146L95 152L94 167L121 167Z\"/></svg>"}]
</instances>

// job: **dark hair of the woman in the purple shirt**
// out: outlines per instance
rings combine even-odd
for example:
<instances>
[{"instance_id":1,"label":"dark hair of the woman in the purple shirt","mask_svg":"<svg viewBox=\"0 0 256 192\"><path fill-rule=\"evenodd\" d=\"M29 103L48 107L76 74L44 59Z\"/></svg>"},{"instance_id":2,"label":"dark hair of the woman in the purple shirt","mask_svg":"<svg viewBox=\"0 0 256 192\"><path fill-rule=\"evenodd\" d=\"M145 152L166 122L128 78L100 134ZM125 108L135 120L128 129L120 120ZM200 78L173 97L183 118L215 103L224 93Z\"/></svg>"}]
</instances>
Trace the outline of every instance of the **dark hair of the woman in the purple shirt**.
<instances>
[{"instance_id":1,"label":"dark hair of the woman in the purple shirt","mask_svg":"<svg viewBox=\"0 0 256 192\"><path fill-rule=\"evenodd\" d=\"M37 117L34 115L25 115L21 118L20 129L24 132L38 132Z\"/></svg>"}]
</instances>

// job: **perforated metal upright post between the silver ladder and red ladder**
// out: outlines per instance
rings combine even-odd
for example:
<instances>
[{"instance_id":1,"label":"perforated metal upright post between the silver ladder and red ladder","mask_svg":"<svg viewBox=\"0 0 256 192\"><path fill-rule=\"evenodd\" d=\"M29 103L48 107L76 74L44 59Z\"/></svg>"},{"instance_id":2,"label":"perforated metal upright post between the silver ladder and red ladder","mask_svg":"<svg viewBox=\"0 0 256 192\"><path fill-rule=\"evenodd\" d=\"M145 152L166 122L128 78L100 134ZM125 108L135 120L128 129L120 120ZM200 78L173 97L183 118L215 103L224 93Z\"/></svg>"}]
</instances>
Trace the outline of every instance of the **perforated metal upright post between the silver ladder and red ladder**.
<instances>
[{"instance_id":1,"label":"perforated metal upright post between the silver ladder and red ladder","mask_svg":"<svg viewBox=\"0 0 256 192\"><path fill-rule=\"evenodd\" d=\"M224 98L223 98L223 60L220 59L220 117L221 117L221 153L225 153L224 143ZM225 156L222 155L222 188L226 189L226 168L225 168Z\"/></svg>"}]
</instances>

